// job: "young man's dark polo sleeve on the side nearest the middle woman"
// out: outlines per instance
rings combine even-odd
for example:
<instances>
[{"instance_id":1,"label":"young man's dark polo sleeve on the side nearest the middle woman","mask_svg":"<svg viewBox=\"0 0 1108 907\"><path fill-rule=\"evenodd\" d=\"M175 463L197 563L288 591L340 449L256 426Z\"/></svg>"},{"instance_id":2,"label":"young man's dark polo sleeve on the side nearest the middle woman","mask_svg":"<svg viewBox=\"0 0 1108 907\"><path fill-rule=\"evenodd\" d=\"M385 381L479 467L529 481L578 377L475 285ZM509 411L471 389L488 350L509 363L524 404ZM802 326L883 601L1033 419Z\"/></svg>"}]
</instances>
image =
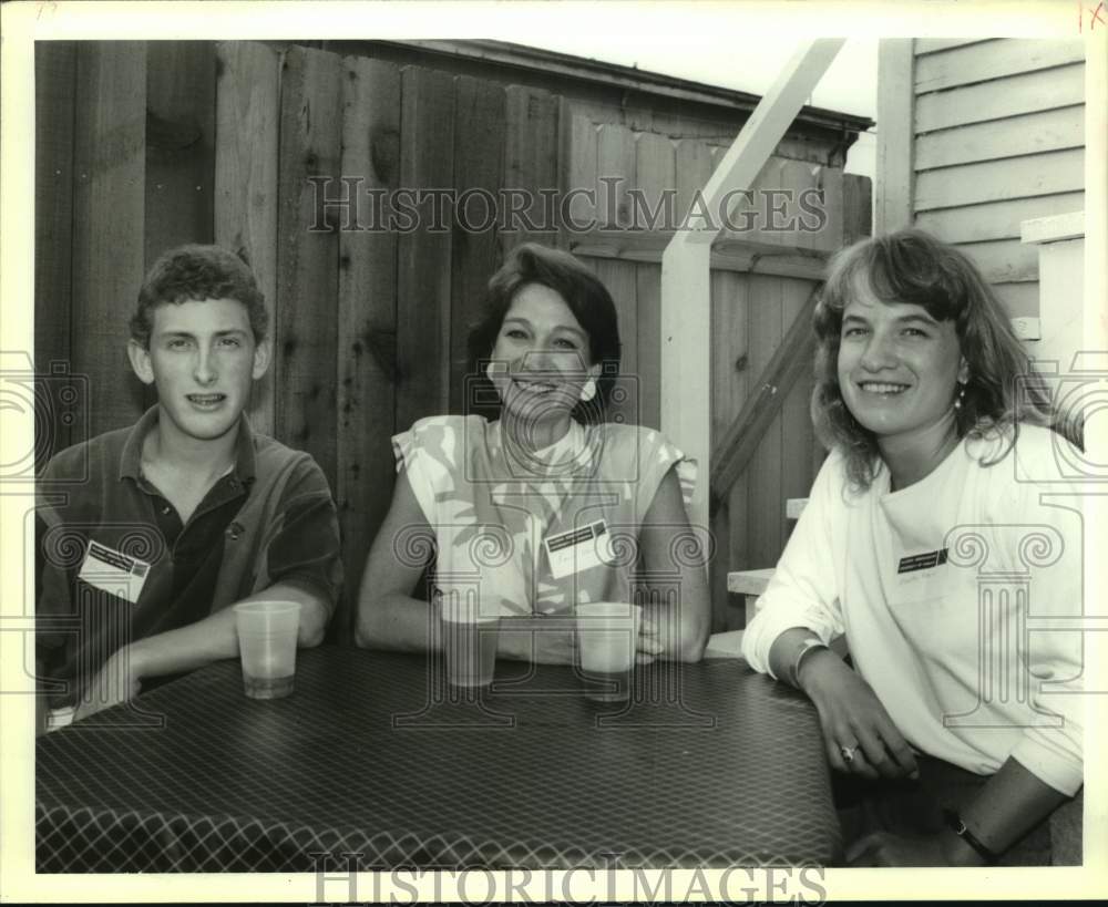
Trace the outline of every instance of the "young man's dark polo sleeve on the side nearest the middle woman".
<instances>
[{"instance_id":1,"label":"young man's dark polo sleeve on the side nearest the middle woman","mask_svg":"<svg viewBox=\"0 0 1108 907\"><path fill-rule=\"evenodd\" d=\"M311 458L297 465L285 487L266 557L270 581L306 583L334 612L342 587L339 521L327 478Z\"/></svg>"}]
</instances>

